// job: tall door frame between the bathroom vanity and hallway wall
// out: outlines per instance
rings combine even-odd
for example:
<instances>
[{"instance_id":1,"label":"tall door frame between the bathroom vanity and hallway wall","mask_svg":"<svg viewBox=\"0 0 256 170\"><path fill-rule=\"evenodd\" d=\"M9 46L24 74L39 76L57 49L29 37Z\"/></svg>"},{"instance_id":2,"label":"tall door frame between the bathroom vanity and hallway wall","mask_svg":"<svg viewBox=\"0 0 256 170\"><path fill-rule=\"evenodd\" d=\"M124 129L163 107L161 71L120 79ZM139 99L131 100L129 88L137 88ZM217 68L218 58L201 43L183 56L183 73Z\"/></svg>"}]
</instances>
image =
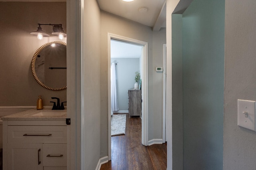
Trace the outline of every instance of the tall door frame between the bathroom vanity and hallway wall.
<instances>
[{"instance_id":1,"label":"tall door frame between the bathroom vanity and hallway wall","mask_svg":"<svg viewBox=\"0 0 256 170\"><path fill-rule=\"evenodd\" d=\"M81 125L82 111L82 60L84 48L82 48L84 36L83 15L84 0L66 1L67 10L67 118L71 119L71 125L67 126L67 169L84 169L84 146L81 145L81 135L84 128ZM82 114L81 114L82 113ZM82 155L83 154L83 155Z\"/></svg>"}]
</instances>

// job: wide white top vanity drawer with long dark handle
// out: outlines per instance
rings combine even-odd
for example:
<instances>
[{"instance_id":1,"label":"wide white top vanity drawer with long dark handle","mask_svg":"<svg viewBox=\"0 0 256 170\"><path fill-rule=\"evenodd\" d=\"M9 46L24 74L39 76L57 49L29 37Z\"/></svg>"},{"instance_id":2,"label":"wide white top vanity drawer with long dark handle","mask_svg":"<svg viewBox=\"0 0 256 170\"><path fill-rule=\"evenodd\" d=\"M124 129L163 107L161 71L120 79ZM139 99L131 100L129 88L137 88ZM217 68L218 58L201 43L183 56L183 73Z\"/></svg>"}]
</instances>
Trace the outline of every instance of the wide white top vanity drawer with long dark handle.
<instances>
[{"instance_id":1,"label":"wide white top vanity drawer with long dark handle","mask_svg":"<svg viewBox=\"0 0 256 170\"><path fill-rule=\"evenodd\" d=\"M8 126L8 143L66 143L66 126Z\"/></svg>"}]
</instances>

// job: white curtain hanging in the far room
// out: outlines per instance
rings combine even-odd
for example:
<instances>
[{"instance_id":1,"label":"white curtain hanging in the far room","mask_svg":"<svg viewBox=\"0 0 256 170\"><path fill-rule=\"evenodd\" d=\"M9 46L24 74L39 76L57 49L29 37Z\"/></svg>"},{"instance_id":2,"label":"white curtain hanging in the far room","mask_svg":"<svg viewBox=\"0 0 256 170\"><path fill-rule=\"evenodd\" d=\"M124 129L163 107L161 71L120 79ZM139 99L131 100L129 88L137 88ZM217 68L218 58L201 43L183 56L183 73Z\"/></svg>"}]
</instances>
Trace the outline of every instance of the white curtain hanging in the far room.
<instances>
[{"instance_id":1,"label":"white curtain hanging in the far room","mask_svg":"<svg viewBox=\"0 0 256 170\"><path fill-rule=\"evenodd\" d=\"M116 65L111 63L111 115L113 111L118 111L118 102L117 102L117 89L116 89Z\"/></svg>"}]
</instances>

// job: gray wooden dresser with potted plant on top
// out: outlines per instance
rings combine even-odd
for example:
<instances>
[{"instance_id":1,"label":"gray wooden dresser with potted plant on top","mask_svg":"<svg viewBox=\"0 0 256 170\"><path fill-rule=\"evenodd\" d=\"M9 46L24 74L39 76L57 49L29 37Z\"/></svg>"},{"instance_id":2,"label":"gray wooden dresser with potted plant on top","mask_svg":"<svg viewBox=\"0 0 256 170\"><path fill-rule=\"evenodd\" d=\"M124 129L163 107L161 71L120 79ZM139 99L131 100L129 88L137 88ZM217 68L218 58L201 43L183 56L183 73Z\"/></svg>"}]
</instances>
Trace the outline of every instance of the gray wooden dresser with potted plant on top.
<instances>
[{"instance_id":1,"label":"gray wooden dresser with potted plant on top","mask_svg":"<svg viewBox=\"0 0 256 170\"><path fill-rule=\"evenodd\" d=\"M141 117L141 93L138 89L128 90L129 97L129 117L140 116Z\"/></svg>"}]
</instances>

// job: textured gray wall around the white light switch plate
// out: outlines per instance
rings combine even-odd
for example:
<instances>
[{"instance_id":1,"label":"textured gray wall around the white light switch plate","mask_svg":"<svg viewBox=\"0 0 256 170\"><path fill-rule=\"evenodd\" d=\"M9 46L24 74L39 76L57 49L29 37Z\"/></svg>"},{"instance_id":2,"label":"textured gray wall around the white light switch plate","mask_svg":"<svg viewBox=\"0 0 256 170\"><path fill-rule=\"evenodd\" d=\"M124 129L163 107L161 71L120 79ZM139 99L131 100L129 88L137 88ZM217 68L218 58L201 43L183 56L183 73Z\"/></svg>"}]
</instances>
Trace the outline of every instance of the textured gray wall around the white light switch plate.
<instances>
[{"instance_id":1,"label":"textured gray wall around the white light switch plate","mask_svg":"<svg viewBox=\"0 0 256 170\"><path fill-rule=\"evenodd\" d=\"M224 170L256 167L256 132L237 126L237 99L256 101L255 8L255 0L226 0Z\"/></svg>"}]
</instances>

